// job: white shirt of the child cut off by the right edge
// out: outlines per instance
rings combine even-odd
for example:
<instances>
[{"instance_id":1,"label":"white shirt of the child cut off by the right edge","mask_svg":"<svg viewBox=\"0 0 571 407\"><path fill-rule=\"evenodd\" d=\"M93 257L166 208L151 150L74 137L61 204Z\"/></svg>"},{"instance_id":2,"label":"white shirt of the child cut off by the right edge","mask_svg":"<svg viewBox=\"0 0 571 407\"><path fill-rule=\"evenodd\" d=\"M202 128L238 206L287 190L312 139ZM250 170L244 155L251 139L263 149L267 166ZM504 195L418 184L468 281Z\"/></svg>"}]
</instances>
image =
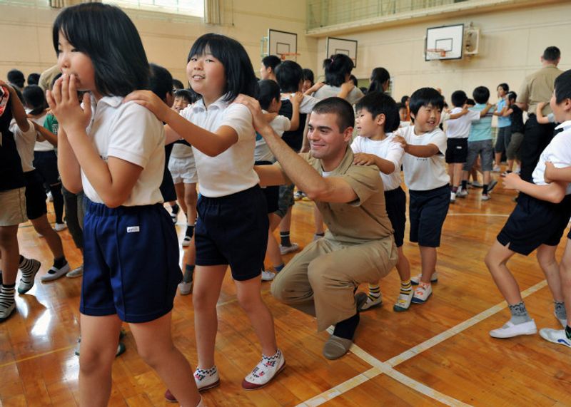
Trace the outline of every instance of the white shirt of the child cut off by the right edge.
<instances>
[{"instance_id":1,"label":"white shirt of the child cut off by the right edge","mask_svg":"<svg viewBox=\"0 0 571 407\"><path fill-rule=\"evenodd\" d=\"M533 183L535 185L547 185L545 182L545 163L549 161L555 168L571 167L571 120L567 120L556 127L562 128L561 133L557 133L547 145L543 153L540 155L540 160L532 172ZM571 194L571 183L567 184L566 195Z\"/></svg>"}]
</instances>

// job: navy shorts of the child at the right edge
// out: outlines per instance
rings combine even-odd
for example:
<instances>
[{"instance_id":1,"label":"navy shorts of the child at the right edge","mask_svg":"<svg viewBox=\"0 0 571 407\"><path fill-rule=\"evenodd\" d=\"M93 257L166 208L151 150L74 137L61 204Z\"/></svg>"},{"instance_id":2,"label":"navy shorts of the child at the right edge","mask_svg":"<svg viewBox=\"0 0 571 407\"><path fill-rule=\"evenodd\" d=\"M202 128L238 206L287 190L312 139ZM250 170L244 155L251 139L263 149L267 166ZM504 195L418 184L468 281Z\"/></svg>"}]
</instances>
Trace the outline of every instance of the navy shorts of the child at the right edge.
<instances>
[{"instance_id":1,"label":"navy shorts of the child at the right edge","mask_svg":"<svg viewBox=\"0 0 571 407\"><path fill-rule=\"evenodd\" d=\"M571 195L554 204L520 193L512 215L497 235L497 241L525 256L541 244L557 246L570 215Z\"/></svg>"}]
</instances>

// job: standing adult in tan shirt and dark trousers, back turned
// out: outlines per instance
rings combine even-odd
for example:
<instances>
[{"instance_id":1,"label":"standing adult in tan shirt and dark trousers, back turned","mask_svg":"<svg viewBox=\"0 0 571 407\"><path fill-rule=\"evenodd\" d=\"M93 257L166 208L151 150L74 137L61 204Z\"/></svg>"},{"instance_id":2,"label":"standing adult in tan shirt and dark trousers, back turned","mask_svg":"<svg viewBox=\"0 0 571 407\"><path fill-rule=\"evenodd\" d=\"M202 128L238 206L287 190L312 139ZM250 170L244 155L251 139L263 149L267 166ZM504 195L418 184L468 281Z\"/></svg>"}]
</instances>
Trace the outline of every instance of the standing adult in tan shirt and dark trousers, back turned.
<instances>
[{"instance_id":1,"label":"standing adult in tan shirt and dark trousers, back turned","mask_svg":"<svg viewBox=\"0 0 571 407\"><path fill-rule=\"evenodd\" d=\"M520 147L522 168L520 177L522 180L531 181L531 174L537 165L537 161L545 147L553 138L555 124L537 123L535 110L541 102L550 101L555 87L555 78L563 71L557 68L561 58L561 51L556 46L548 46L541 56L542 68L525 78L524 83L517 93L515 104L522 110L527 110L527 122ZM544 115L551 113L549 103L542 110Z\"/></svg>"}]
</instances>

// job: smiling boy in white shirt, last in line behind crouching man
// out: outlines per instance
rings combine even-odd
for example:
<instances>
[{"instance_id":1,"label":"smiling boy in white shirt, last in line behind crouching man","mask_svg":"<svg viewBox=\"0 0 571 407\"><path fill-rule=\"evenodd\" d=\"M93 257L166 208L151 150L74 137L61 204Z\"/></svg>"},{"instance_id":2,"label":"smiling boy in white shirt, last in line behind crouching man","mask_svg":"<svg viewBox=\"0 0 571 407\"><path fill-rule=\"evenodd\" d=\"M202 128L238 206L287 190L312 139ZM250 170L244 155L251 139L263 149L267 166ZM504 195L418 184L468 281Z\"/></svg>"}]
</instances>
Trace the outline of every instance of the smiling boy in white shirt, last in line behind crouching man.
<instances>
[{"instance_id":1,"label":"smiling boy in white shirt, last in line behind crouching man","mask_svg":"<svg viewBox=\"0 0 571 407\"><path fill-rule=\"evenodd\" d=\"M423 304L433 292L436 282L436 247L450 206L450 177L446 173L444 155L446 136L438 124L444 98L433 88L420 88L410 96L410 115L415 123L395 132L395 140L403 146L403 169L410 204L410 242L418 242L422 273L411 279L418 288L413 302Z\"/></svg>"}]
</instances>

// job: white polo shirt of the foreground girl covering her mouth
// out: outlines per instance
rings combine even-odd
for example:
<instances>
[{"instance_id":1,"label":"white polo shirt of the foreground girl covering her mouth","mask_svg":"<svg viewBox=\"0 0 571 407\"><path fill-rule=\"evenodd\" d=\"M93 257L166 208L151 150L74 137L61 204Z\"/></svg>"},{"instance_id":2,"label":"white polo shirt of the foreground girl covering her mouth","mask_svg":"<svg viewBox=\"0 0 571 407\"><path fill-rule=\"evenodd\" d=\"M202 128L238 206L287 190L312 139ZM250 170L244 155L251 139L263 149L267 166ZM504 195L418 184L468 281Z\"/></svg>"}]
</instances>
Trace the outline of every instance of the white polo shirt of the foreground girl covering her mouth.
<instances>
[{"instance_id":1,"label":"white polo shirt of the foreground girl covering her mouth","mask_svg":"<svg viewBox=\"0 0 571 407\"><path fill-rule=\"evenodd\" d=\"M165 166L164 126L151 110L134 102L123 103L121 96L106 96L98 102L91 98L92 118L87 135L99 155L121 158L143 168L131 195L123 206L153 205L163 202L158 189ZM103 203L81 170L84 192L90 200Z\"/></svg>"}]
</instances>

